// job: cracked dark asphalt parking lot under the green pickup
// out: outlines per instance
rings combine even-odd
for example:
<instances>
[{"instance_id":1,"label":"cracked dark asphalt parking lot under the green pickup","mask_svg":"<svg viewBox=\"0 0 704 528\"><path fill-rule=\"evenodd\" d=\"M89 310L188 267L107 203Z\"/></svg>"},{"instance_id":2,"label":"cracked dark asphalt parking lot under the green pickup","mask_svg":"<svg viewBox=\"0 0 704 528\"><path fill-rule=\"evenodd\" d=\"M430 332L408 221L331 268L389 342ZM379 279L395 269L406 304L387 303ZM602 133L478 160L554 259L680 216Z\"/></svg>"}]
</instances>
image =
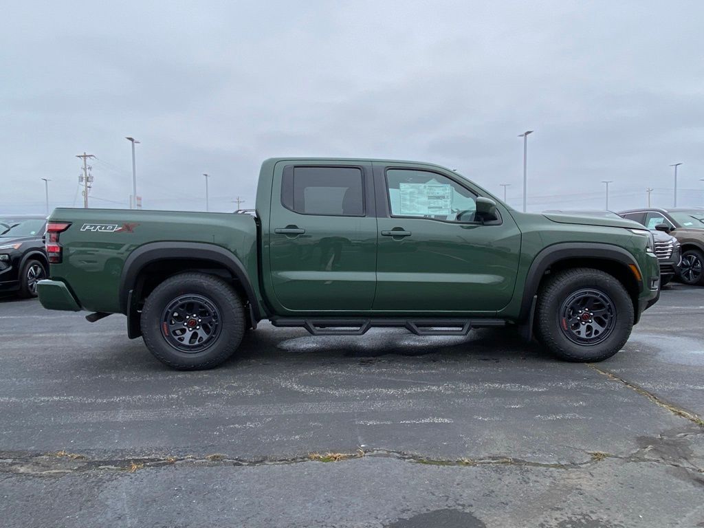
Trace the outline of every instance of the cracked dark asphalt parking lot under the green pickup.
<instances>
[{"instance_id":1,"label":"cracked dark asphalt parking lot under the green pickup","mask_svg":"<svg viewBox=\"0 0 704 528\"><path fill-rule=\"evenodd\" d=\"M623 351L260 325L175 372L125 318L0 301L8 527L704 527L704 289Z\"/></svg>"}]
</instances>

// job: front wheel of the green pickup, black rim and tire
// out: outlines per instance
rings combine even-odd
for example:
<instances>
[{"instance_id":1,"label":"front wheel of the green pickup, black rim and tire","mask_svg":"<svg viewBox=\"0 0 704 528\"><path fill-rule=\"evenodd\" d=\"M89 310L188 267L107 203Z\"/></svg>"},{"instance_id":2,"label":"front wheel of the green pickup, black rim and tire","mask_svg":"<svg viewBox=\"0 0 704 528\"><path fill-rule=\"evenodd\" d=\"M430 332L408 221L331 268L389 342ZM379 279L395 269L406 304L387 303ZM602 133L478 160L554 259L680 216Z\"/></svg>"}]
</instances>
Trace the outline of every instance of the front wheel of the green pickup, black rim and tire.
<instances>
[{"instance_id":1,"label":"front wheel of the green pickup, black rim and tire","mask_svg":"<svg viewBox=\"0 0 704 528\"><path fill-rule=\"evenodd\" d=\"M536 333L563 360L610 358L628 341L633 321L633 303L623 284L601 270L558 272L538 296Z\"/></svg>"}]
</instances>

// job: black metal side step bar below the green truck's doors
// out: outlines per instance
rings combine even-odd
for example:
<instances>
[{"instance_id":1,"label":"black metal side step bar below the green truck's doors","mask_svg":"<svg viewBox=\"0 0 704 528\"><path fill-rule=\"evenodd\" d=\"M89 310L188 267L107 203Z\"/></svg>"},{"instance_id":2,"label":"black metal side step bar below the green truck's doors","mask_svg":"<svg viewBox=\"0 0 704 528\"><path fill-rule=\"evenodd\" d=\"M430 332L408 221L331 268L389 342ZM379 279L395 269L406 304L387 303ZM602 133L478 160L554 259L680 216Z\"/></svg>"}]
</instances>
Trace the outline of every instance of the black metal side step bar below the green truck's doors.
<instances>
[{"instance_id":1,"label":"black metal side step bar below the green truck's doors","mask_svg":"<svg viewBox=\"0 0 704 528\"><path fill-rule=\"evenodd\" d=\"M503 327L503 319L274 318L275 327L305 328L314 336L360 336L372 327L406 328L417 336L466 336L478 327Z\"/></svg>"}]
</instances>

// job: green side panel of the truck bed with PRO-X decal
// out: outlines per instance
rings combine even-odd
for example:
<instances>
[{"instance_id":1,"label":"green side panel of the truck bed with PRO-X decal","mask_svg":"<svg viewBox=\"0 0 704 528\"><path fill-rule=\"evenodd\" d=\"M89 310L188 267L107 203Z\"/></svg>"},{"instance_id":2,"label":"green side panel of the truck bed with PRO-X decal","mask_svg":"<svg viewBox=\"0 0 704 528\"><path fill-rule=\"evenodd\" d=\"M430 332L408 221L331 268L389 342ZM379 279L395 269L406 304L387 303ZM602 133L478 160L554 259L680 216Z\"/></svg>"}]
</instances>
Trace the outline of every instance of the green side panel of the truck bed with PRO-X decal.
<instances>
[{"instance_id":1,"label":"green side panel of the truck bed with PRO-X decal","mask_svg":"<svg viewBox=\"0 0 704 528\"><path fill-rule=\"evenodd\" d=\"M70 284L84 310L124 313L120 284L125 260L147 244L219 246L236 256L251 277L257 276L257 226L251 215L57 208L49 221L71 223L59 236L62 260L51 265L51 279Z\"/></svg>"}]
</instances>

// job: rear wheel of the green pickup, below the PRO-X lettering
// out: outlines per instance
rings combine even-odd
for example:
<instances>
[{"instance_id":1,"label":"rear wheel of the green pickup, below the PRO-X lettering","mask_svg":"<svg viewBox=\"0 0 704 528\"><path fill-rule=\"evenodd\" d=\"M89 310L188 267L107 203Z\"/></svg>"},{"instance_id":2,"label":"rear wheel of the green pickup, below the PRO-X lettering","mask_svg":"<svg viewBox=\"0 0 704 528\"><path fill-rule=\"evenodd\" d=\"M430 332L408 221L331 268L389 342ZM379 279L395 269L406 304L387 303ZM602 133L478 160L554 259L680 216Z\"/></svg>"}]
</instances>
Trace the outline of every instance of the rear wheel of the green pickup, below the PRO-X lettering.
<instances>
[{"instance_id":1,"label":"rear wheel of the green pickup, below the PRO-X lettering","mask_svg":"<svg viewBox=\"0 0 704 528\"><path fill-rule=\"evenodd\" d=\"M158 360L179 370L217 367L237 350L245 315L237 292L205 273L182 273L144 302L142 337Z\"/></svg>"}]
</instances>

